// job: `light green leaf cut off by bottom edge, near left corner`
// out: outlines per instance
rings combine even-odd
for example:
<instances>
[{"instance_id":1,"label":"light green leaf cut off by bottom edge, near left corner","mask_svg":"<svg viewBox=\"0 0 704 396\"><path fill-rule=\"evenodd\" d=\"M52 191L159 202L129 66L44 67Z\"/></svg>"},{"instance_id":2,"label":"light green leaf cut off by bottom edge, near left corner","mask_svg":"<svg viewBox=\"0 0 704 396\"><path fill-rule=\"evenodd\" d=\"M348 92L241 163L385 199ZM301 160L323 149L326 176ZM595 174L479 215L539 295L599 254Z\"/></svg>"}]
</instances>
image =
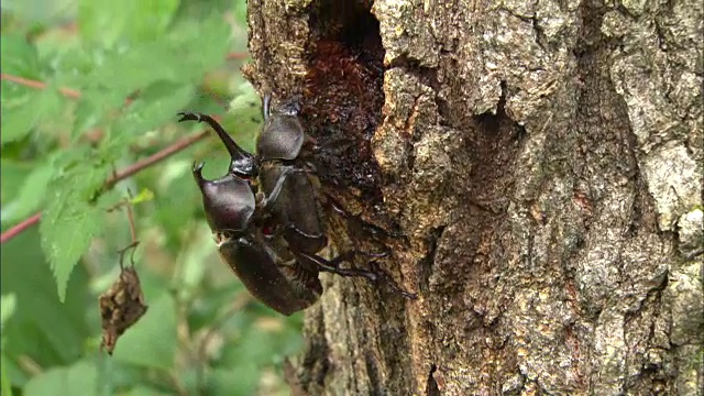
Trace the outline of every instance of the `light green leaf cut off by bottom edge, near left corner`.
<instances>
[{"instance_id":1,"label":"light green leaf cut off by bottom edge, near left corner","mask_svg":"<svg viewBox=\"0 0 704 396\"><path fill-rule=\"evenodd\" d=\"M48 370L33 377L24 387L24 396L100 395L98 370L92 362L79 361L67 367Z\"/></svg>"}]
</instances>

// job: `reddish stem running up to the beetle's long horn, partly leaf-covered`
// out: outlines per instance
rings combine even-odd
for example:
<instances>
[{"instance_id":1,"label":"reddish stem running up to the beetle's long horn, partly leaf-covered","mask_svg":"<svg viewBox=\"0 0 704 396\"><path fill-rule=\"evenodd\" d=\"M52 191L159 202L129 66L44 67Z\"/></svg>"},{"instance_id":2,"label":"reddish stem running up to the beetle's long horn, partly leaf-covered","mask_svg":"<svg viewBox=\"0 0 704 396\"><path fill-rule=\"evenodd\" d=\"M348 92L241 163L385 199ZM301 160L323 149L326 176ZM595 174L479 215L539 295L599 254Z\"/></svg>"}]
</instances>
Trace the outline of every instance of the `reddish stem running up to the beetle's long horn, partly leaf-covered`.
<instances>
[{"instance_id":1,"label":"reddish stem running up to the beetle's long horn, partly leaf-covered","mask_svg":"<svg viewBox=\"0 0 704 396\"><path fill-rule=\"evenodd\" d=\"M196 142L202 140L207 135L208 135L208 131L202 131L202 132L197 133L195 135L182 139L180 141L167 146L164 150L161 150L160 152L155 153L154 155L151 155L151 156L148 156L148 157L146 157L144 160L135 162L134 164L128 166L127 168L124 168L124 169L118 172L117 174L114 174L113 176L109 177L106 180L105 188L106 189L111 189L112 187L114 187L114 185L118 182L123 180L123 179L136 174L138 172L140 172L142 169L145 169L145 168L158 163L160 161L166 160L167 157L169 157L169 156L178 153L179 151L183 151L183 150L187 148L188 146L195 144ZM40 221L40 217L41 216L42 216L41 212L35 213L35 215L31 216L30 218L28 218L26 220L22 221L21 223L12 227L8 231L6 231L2 234L0 234L0 244L6 243L7 241L9 241L12 238L16 237L18 234L20 234L24 230L26 230L30 227L36 224Z\"/></svg>"}]
</instances>

